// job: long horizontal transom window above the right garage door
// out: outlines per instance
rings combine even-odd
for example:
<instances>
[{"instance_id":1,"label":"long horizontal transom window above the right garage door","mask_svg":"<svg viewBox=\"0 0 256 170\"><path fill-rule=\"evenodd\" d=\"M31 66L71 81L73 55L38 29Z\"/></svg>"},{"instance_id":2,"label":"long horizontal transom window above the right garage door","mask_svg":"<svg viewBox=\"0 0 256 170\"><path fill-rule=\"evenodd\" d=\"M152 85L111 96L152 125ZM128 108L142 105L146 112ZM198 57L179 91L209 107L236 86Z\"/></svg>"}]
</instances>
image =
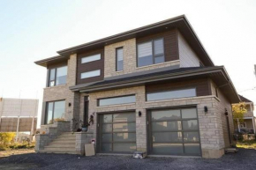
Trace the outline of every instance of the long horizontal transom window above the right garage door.
<instances>
[{"instance_id":1,"label":"long horizontal transom window above the right garage door","mask_svg":"<svg viewBox=\"0 0 256 170\"><path fill-rule=\"evenodd\" d=\"M188 97L195 97L195 96L196 96L195 88L179 89L179 90L164 91L164 92L147 92L147 101L171 100L171 99L188 98Z\"/></svg>"}]
</instances>

